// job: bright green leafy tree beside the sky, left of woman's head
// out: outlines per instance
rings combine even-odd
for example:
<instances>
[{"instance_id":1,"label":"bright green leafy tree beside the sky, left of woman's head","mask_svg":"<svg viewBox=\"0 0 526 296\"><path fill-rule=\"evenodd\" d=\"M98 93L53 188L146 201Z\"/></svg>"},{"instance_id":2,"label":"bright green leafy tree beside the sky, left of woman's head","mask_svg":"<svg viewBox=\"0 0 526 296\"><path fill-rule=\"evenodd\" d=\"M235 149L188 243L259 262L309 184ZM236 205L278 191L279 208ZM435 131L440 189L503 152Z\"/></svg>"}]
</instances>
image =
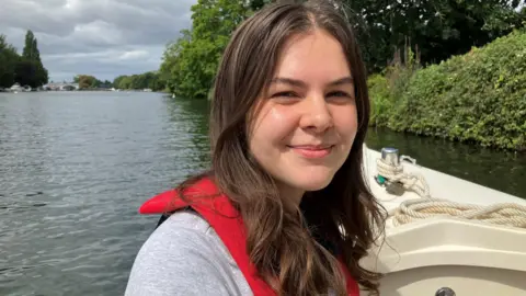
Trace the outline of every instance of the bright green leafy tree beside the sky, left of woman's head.
<instances>
[{"instance_id":1,"label":"bright green leafy tree beside the sky, left of woman's head","mask_svg":"<svg viewBox=\"0 0 526 296\"><path fill-rule=\"evenodd\" d=\"M161 79L170 92L204 99L230 34L251 13L244 1L199 0L192 7L192 30L167 46Z\"/></svg>"}]
</instances>

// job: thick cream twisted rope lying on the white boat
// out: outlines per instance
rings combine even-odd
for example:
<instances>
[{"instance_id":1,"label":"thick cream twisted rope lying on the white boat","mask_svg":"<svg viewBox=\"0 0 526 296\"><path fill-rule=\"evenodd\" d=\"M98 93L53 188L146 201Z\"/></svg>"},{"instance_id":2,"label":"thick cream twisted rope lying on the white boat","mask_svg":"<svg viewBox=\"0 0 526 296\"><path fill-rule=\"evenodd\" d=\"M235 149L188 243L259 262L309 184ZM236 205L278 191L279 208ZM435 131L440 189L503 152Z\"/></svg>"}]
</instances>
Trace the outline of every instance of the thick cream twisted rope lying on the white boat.
<instances>
[{"instance_id":1,"label":"thick cream twisted rope lying on the white boat","mask_svg":"<svg viewBox=\"0 0 526 296\"><path fill-rule=\"evenodd\" d=\"M501 203L479 206L434 198L430 194L430 186L424 177L418 173L403 172L402 164L393 166L379 158L377 169L378 173L387 178L389 182L400 182L405 190L412 190L423 197L422 200L404 201L393 212L389 213L395 226L430 217L449 216L526 228L526 206L524 205Z\"/></svg>"}]
</instances>

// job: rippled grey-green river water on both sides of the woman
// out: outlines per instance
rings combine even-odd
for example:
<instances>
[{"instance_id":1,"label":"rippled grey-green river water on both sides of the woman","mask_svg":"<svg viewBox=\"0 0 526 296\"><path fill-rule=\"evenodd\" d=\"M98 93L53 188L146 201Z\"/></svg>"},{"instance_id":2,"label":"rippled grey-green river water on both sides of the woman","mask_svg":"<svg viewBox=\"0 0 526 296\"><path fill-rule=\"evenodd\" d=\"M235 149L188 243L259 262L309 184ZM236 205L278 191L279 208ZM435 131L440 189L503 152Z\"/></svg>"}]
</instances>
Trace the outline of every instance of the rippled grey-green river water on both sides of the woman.
<instances>
[{"instance_id":1,"label":"rippled grey-green river water on both sides of the woman","mask_svg":"<svg viewBox=\"0 0 526 296\"><path fill-rule=\"evenodd\" d=\"M208 161L207 105L142 92L0 93L0 295L122 295L148 197ZM367 145L526 196L526 156L371 129Z\"/></svg>"}]
</instances>

